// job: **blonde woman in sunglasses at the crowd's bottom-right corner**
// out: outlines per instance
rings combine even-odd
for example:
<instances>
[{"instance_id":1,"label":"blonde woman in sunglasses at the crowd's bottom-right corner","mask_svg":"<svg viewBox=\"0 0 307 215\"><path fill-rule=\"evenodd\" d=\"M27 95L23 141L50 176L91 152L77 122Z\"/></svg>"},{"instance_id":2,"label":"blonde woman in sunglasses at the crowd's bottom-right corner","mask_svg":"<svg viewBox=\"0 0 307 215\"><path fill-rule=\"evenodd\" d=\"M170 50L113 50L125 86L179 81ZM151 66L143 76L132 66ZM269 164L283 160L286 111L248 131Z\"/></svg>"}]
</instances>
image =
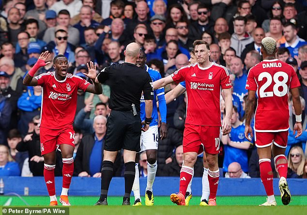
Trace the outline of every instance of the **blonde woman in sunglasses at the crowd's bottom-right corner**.
<instances>
[{"instance_id":1,"label":"blonde woman in sunglasses at the crowd's bottom-right corner","mask_svg":"<svg viewBox=\"0 0 307 215\"><path fill-rule=\"evenodd\" d=\"M294 146L288 156L288 178L299 178L304 174L305 156L303 149Z\"/></svg>"}]
</instances>

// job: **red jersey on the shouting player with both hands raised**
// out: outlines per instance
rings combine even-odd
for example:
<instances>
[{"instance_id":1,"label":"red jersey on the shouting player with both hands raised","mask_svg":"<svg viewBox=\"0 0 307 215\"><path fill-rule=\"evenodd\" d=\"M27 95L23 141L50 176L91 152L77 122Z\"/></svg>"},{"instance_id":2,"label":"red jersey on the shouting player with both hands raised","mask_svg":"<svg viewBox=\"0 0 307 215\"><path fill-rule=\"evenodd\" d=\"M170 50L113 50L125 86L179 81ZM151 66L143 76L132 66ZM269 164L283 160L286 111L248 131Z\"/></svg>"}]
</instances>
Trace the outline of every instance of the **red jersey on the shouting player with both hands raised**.
<instances>
[{"instance_id":1,"label":"red jersey on the shouting player with both hands raised","mask_svg":"<svg viewBox=\"0 0 307 215\"><path fill-rule=\"evenodd\" d=\"M43 87L40 126L60 129L72 125L77 109L77 90L85 91L90 85L86 80L67 74L63 81L55 77L55 72L47 72L35 77Z\"/></svg>"}]
</instances>

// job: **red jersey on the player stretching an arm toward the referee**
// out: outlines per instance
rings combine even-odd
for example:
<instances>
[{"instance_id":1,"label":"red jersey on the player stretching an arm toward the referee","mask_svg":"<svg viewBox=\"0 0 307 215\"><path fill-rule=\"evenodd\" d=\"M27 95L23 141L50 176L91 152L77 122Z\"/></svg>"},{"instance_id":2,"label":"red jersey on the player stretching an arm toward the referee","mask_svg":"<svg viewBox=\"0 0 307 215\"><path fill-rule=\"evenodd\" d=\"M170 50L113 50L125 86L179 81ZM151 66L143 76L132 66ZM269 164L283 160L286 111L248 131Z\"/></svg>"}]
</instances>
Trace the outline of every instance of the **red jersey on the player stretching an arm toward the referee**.
<instances>
[{"instance_id":1,"label":"red jersey on the player stretching an arm toward the referee","mask_svg":"<svg viewBox=\"0 0 307 215\"><path fill-rule=\"evenodd\" d=\"M172 74L173 81L185 81L187 94L186 124L221 126L221 88L231 87L229 73L224 66L211 63L184 66Z\"/></svg>"}]
</instances>

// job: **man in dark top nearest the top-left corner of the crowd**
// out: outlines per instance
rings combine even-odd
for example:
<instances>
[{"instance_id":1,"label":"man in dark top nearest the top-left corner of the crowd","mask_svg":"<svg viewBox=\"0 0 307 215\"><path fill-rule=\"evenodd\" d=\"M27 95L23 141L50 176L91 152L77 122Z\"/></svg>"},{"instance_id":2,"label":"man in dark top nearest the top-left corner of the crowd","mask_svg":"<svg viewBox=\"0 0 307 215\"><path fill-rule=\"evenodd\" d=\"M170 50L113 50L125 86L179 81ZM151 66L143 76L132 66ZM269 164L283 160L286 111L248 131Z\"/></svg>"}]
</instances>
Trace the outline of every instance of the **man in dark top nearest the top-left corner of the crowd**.
<instances>
[{"instance_id":1,"label":"man in dark top nearest the top-left corner of the crowd","mask_svg":"<svg viewBox=\"0 0 307 215\"><path fill-rule=\"evenodd\" d=\"M9 41L12 42L14 46L16 46L17 34L24 30L24 26L19 24L20 12L17 8L12 7L11 9L9 9L7 21L9 23L7 26Z\"/></svg>"}]
</instances>

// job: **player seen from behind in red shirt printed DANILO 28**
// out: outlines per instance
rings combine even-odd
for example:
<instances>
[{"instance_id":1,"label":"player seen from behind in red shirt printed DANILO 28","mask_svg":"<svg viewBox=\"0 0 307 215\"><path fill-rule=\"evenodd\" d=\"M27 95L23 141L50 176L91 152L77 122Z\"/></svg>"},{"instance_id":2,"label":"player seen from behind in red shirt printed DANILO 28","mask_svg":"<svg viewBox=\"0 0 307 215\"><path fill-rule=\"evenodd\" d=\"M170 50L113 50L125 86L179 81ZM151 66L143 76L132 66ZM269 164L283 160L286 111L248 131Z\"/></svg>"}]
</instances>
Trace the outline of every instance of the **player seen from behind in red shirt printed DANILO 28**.
<instances>
[{"instance_id":1,"label":"player seen from behind in red shirt printed DANILO 28","mask_svg":"<svg viewBox=\"0 0 307 215\"><path fill-rule=\"evenodd\" d=\"M279 173L279 190L281 201L287 205L291 195L286 181L287 147L289 130L288 92L292 94L296 123L293 133L296 137L302 134L302 108L298 87L300 82L292 66L275 58L277 52L276 41L272 37L265 37L261 41L263 61L252 67L247 76L245 136L252 135L250 120L255 106L257 93L257 109L255 113L255 142L259 154L260 177L268 196L262 206L275 206L273 191L273 172L271 168L271 153L273 152L276 169ZM273 146L272 146L273 145Z\"/></svg>"}]
</instances>

